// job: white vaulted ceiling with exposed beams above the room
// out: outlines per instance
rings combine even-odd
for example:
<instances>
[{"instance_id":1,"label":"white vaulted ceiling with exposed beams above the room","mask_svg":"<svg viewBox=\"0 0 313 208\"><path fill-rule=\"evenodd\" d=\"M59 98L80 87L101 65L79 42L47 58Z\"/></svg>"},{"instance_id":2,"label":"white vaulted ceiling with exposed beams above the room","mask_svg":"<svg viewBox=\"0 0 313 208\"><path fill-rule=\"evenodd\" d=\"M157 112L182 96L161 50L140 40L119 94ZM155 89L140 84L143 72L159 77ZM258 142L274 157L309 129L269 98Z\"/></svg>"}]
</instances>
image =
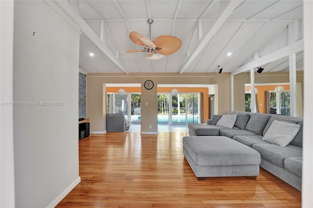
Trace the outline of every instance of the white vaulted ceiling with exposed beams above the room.
<instances>
[{"instance_id":1,"label":"white vaulted ceiling with exposed beams above the room","mask_svg":"<svg viewBox=\"0 0 313 208\"><path fill-rule=\"evenodd\" d=\"M87 73L205 73L216 72L219 65L223 72L236 72L246 70L244 66L249 62L254 62L252 67L264 67L265 71L282 72L288 70L289 51L297 54L297 70L303 69L302 0L68 3L71 8L66 8L67 12L73 10L79 16L72 16L83 20L79 66ZM154 20L152 40L172 35L182 41L177 52L155 61L145 59L147 52L123 53L143 49L130 40L129 32L149 37L148 19ZM268 58L279 50L280 56Z\"/></svg>"}]
</instances>

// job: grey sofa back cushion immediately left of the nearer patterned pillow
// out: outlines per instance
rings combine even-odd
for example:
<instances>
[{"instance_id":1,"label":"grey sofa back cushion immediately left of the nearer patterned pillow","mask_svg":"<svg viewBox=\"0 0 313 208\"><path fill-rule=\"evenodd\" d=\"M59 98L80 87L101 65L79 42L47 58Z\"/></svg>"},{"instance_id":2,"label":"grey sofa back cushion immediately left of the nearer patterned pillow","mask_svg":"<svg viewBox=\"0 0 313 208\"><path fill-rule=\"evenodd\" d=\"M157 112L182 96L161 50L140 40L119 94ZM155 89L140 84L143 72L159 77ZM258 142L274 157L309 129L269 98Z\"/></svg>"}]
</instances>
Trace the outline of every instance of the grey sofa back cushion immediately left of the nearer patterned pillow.
<instances>
[{"instance_id":1,"label":"grey sofa back cushion immediately left of the nearer patterned pillow","mask_svg":"<svg viewBox=\"0 0 313 208\"><path fill-rule=\"evenodd\" d=\"M248 123L246 124L246 130L263 135L263 130L268 124L268 120L271 116L268 114L252 114Z\"/></svg>"}]
</instances>

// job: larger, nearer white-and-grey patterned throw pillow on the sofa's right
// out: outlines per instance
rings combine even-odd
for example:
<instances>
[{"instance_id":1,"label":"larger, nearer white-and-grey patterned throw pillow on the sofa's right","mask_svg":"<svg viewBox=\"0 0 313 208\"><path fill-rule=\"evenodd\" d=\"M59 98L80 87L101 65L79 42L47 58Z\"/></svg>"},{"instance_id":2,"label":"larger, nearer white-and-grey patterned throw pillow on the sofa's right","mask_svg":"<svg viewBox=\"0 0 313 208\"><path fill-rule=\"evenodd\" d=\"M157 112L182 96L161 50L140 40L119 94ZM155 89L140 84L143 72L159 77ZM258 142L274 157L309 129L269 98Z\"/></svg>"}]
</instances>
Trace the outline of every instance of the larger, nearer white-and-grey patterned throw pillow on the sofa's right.
<instances>
[{"instance_id":1,"label":"larger, nearer white-and-grey patterned throw pillow on the sofa's right","mask_svg":"<svg viewBox=\"0 0 313 208\"><path fill-rule=\"evenodd\" d=\"M273 121L262 140L279 146L287 146L297 135L300 125Z\"/></svg>"}]
</instances>

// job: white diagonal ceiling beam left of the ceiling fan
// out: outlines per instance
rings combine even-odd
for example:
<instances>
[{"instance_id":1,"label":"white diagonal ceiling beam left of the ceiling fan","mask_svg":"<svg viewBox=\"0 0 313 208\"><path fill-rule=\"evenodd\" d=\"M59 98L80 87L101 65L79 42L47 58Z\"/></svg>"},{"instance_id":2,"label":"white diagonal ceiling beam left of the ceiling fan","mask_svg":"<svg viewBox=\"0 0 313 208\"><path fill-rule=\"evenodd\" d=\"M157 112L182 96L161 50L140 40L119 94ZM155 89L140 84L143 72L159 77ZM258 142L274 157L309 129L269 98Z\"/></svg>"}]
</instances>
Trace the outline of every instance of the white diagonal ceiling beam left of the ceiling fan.
<instances>
[{"instance_id":1,"label":"white diagonal ceiling beam left of the ceiling fan","mask_svg":"<svg viewBox=\"0 0 313 208\"><path fill-rule=\"evenodd\" d=\"M129 72L122 62L116 59L115 55L110 51L110 49L100 40L100 38L95 34L95 32L89 27L86 21L71 7L67 1L53 1L57 4L73 21L77 23L80 29L87 35L87 37L100 48L100 50L105 53L122 71L126 74Z\"/></svg>"}]
</instances>

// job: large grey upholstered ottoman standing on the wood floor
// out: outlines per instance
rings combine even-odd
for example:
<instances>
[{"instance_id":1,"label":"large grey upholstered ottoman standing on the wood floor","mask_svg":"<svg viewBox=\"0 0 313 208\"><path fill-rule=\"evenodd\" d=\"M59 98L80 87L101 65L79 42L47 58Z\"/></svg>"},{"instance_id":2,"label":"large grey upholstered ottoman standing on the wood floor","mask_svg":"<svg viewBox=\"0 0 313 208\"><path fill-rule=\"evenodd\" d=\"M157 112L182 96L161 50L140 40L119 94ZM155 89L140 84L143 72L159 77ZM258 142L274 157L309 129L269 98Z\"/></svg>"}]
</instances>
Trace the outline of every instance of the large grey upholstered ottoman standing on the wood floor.
<instances>
[{"instance_id":1,"label":"large grey upholstered ottoman standing on the wood floor","mask_svg":"<svg viewBox=\"0 0 313 208\"><path fill-rule=\"evenodd\" d=\"M258 151L224 136L183 137L183 154L198 180L259 175Z\"/></svg>"}]
</instances>

